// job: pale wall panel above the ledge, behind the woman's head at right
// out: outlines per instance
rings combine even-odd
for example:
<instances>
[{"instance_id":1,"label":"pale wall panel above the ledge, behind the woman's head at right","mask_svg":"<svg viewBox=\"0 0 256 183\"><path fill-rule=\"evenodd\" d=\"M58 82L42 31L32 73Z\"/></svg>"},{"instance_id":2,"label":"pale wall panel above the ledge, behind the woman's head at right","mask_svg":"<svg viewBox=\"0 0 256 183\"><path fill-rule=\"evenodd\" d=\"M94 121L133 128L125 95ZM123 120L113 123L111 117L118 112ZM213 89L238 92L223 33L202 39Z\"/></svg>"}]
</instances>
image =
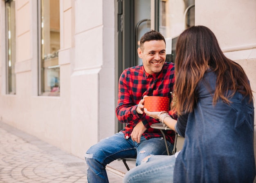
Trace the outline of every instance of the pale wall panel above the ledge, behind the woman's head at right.
<instances>
[{"instance_id":1,"label":"pale wall panel above the ledge, behind the woman's head at right","mask_svg":"<svg viewBox=\"0 0 256 183\"><path fill-rule=\"evenodd\" d=\"M223 49L256 42L255 0L195 2L195 24L209 27Z\"/></svg>"}]
</instances>

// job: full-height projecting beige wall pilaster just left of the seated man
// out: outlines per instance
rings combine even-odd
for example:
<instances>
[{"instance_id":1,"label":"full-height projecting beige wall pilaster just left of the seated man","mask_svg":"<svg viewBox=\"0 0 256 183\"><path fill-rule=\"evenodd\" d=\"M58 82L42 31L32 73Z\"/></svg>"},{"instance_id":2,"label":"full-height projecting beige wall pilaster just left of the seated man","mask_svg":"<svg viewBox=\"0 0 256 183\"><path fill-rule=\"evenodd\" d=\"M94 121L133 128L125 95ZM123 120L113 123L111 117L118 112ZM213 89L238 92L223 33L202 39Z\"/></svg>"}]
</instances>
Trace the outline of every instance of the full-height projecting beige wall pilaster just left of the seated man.
<instances>
[{"instance_id":1,"label":"full-height projecting beige wall pilaster just left of the seated man","mask_svg":"<svg viewBox=\"0 0 256 183\"><path fill-rule=\"evenodd\" d=\"M71 75L72 153L115 133L114 2L75 1Z\"/></svg>"}]
</instances>

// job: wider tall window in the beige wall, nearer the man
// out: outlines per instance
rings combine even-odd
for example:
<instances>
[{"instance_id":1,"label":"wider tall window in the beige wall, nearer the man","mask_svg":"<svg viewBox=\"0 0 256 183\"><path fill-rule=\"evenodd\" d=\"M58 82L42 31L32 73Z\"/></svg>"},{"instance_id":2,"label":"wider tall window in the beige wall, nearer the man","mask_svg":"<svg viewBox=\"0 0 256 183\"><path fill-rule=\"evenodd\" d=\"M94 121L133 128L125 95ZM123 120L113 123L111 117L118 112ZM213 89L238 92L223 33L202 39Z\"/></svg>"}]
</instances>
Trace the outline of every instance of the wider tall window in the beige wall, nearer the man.
<instances>
[{"instance_id":1,"label":"wider tall window in the beige wall, nearer the man","mask_svg":"<svg viewBox=\"0 0 256 183\"><path fill-rule=\"evenodd\" d=\"M39 95L60 95L59 0L39 0Z\"/></svg>"}]
</instances>

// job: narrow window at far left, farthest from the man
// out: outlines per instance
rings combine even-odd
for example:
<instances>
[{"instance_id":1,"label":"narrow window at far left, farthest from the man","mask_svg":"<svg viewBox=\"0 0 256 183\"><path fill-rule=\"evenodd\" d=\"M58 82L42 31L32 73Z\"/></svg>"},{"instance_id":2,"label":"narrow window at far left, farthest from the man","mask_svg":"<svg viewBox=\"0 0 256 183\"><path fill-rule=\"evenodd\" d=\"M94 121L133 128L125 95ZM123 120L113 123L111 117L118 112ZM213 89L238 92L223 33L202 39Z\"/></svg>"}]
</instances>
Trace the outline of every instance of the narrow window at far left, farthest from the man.
<instances>
[{"instance_id":1,"label":"narrow window at far left, farthest from the man","mask_svg":"<svg viewBox=\"0 0 256 183\"><path fill-rule=\"evenodd\" d=\"M7 94L16 93L16 75L15 75L15 60L16 60L16 38L15 38L15 1L6 0L6 45L7 45Z\"/></svg>"}]
</instances>

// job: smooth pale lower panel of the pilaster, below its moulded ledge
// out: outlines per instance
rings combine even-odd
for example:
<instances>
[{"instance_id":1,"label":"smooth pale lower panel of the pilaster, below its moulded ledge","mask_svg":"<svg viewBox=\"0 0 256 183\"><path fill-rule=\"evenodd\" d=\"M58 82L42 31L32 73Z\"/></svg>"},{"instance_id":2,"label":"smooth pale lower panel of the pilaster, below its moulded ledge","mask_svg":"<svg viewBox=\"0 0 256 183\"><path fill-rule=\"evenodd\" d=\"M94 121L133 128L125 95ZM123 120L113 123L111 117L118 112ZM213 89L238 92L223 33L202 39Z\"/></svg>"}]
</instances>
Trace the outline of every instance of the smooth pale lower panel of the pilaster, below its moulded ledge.
<instances>
[{"instance_id":1,"label":"smooth pale lower panel of the pilaster, below its moulded ledge","mask_svg":"<svg viewBox=\"0 0 256 183\"><path fill-rule=\"evenodd\" d=\"M72 153L83 158L99 141L99 69L76 71L71 76Z\"/></svg>"}]
</instances>

